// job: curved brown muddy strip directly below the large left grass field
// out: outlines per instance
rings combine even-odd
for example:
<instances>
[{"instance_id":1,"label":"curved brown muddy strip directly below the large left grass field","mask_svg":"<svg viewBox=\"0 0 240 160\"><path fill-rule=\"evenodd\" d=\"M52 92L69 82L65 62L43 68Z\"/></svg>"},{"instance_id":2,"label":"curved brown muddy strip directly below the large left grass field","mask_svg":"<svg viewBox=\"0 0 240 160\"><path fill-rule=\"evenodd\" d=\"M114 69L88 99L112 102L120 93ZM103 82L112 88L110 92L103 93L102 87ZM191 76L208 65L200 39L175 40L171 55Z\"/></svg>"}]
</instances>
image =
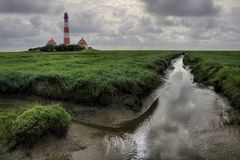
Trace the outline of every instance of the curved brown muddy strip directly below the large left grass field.
<instances>
[{"instance_id":1,"label":"curved brown muddy strip directly below the large left grass field","mask_svg":"<svg viewBox=\"0 0 240 160\"><path fill-rule=\"evenodd\" d=\"M142 109L135 112L131 109L122 107L90 107L79 105L75 103L54 101L44 99L36 96L0 96L0 109L11 109L11 108L23 108L31 106L33 104L41 105L60 105L63 106L68 113L72 116L74 123L88 125L88 126L99 126L102 128L122 128L125 123L141 122L144 118L150 115L156 108L155 90L145 99L141 100ZM155 102L155 103L154 103Z\"/></svg>"}]
</instances>

